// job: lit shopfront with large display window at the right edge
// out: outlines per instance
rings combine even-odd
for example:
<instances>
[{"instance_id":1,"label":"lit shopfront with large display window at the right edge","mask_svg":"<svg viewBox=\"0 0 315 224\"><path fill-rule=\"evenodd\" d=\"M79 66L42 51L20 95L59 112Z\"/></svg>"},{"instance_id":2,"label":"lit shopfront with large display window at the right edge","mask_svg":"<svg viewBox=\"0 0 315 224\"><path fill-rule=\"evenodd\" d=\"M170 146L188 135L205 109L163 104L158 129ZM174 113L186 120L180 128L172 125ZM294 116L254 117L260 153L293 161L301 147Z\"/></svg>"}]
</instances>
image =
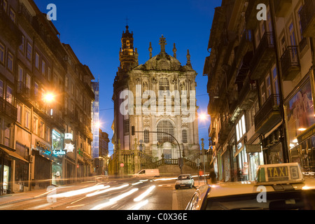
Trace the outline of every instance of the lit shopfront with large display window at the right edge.
<instances>
[{"instance_id":1,"label":"lit shopfront with large display window at the right edge","mask_svg":"<svg viewBox=\"0 0 315 224\"><path fill-rule=\"evenodd\" d=\"M304 171L315 172L315 118L311 78L285 104L290 162L299 162Z\"/></svg>"}]
</instances>

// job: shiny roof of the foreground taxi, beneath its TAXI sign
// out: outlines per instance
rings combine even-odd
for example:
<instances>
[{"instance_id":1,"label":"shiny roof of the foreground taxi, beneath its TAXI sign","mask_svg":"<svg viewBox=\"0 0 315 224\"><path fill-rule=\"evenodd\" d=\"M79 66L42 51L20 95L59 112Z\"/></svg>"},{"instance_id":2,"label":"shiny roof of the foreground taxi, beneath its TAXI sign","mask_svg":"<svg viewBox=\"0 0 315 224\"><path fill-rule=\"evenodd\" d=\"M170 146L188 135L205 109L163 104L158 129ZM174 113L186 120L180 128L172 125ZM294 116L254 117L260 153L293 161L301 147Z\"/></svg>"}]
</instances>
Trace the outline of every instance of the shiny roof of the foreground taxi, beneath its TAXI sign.
<instances>
[{"instance_id":1,"label":"shiny roof of the foreground taxi, beneath its TAXI sign","mask_svg":"<svg viewBox=\"0 0 315 224\"><path fill-rule=\"evenodd\" d=\"M315 189L315 179L305 179L303 183L290 183L295 190ZM207 197L223 197L229 195L244 195L258 193L259 185L254 181L228 182L211 185ZM264 185L267 192L275 192L272 185Z\"/></svg>"}]
</instances>

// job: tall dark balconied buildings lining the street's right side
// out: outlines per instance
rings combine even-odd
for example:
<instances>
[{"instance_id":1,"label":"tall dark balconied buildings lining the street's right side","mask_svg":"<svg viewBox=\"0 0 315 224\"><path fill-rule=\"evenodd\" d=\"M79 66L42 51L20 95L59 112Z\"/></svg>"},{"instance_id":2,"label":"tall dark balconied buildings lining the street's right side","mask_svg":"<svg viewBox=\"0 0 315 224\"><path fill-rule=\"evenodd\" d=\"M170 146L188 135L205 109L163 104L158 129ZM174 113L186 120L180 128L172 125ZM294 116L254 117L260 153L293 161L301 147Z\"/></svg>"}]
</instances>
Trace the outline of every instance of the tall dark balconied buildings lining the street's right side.
<instances>
[{"instance_id":1,"label":"tall dark balconied buildings lining the street's right side","mask_svg":"<svg viewBox=\"0 0 315 224\"><path fill-rule=\"evenodd\" d=\"M267 20L257 19L258 3ZM221 181L252 181L264 163L314 167L313 5L223 0L216 8L204 75L209 153Z\"/></svg>"}]
</instances>

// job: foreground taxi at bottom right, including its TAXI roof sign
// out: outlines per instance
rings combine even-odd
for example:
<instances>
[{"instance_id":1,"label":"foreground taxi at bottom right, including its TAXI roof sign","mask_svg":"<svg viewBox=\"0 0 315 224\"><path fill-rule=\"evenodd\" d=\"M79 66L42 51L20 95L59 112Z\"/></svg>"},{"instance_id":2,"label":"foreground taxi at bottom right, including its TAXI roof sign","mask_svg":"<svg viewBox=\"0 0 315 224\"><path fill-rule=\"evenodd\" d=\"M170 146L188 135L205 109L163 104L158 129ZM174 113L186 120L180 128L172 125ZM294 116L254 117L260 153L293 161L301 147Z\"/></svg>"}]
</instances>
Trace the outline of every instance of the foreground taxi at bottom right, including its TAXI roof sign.
<instances>
[{"instance_id":1,"label":"foreground taxi at bottom right, including its TAXI roof sign","mask_svg":"<svg viewBox=\"0 0 315 224\"><path fill-rule=\"evenodd\" d=\"M297 163L261 165L255 181L204 185L186 210L314 210L315 179Z\"/></svg>"}]
</instances>

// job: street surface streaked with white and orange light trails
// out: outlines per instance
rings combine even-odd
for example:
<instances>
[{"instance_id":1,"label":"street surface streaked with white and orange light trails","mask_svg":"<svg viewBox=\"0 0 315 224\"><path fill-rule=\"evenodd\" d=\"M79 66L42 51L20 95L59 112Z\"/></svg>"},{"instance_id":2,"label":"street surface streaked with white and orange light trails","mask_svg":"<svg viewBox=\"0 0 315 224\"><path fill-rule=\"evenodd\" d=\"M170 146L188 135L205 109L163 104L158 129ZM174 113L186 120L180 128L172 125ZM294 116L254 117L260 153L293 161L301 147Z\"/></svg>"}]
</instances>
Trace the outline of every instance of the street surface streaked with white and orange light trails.
<instances>
[{"instance_id":1,"label":"street surface streaked with white and orange light trails","mask_svg":"<svg viewBox=\"0 0 315 224\"><path fill-rule=\"evenodd\" d=\"M107 179L50 187L0 197L0 210L184 210L195 188L175 190L175 179ZM20 200L14 199L18 196Z\"/></svg>"}]
</instances>

